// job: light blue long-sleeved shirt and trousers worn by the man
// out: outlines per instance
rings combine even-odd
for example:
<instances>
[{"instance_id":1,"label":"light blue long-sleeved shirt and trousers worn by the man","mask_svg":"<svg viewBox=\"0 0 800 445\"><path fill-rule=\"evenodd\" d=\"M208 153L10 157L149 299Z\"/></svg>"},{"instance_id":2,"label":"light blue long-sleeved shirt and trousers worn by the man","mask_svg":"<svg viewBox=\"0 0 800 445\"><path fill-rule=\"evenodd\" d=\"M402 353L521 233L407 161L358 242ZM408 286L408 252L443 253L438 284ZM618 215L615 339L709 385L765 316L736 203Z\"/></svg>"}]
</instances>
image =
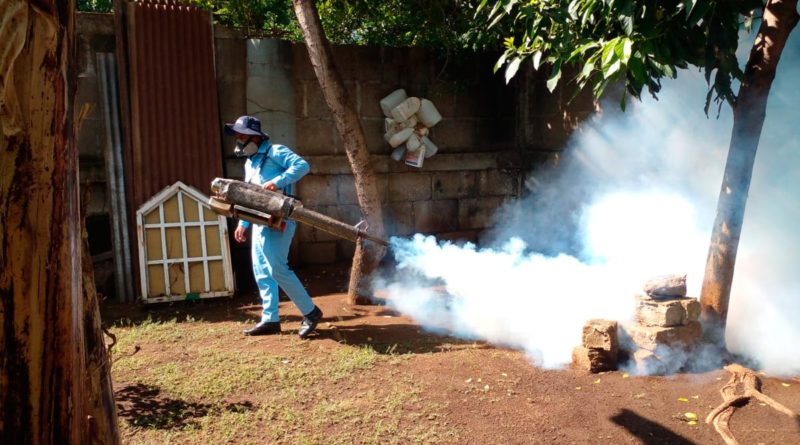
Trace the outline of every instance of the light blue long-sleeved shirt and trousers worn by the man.
<instances>
[{"instance_id":1,"label":"light blue long-sleeved shirt and trousers worn by the man","mask_svg":"<svg viewBox=\"0 0 800 445\"><path fill-rule=\"evenodd\" d=\"M245 181L263 185L272 181L286 194L294 194L294 183L309 171L308 162L284 145L263 141L258 152L247 159L244 166ZM239 221L247 228L250 223ZM278 286L307 315L314 309L311 296L297 275L289 269L289 246L292 243L297 223L286 220L286 230L270 229L253 224L252 258L253 275L261 294L261 322L278 321Z\"/></svg>"}]
</instances>

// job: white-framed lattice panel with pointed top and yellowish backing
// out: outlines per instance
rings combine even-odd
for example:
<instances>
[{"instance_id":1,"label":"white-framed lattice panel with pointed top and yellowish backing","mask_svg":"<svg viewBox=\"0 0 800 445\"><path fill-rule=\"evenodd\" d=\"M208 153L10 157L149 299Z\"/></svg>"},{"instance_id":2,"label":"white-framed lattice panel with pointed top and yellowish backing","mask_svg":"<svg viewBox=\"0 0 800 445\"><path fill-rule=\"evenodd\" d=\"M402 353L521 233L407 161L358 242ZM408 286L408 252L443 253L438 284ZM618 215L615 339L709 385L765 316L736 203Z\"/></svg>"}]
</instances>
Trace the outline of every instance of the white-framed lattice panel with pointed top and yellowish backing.
<instances>
[{"instance_id":1,"label":"white-framed lattice panel with pointed top and yellowish backing","mask_svg":"<svg viewBox=\"0 0 800 445\"><path fill-rule=\"evenodd\" d=\"M136 212L144 302L233 295L227 223L207 202L179 181Z\"/></svg>"}]
</instances>

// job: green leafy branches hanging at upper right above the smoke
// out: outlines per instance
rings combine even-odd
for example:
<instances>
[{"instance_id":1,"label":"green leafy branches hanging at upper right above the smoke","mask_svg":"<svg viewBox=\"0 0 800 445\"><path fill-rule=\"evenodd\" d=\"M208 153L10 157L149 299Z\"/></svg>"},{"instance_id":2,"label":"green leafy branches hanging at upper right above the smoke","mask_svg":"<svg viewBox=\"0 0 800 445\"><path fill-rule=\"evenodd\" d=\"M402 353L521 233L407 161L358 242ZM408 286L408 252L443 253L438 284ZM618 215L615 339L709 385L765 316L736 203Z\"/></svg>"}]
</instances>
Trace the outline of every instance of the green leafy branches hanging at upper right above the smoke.
<instances>
[{"instance_id":1,"label":"green leafy branches hanging at upper right above the smoke","mask_svg":"<svg viewBox=\"0 0 800 445\"><path fill-rule=\"evenodd\" d=\"M505 67L506 79L530 59L537 70L550 67L551 91L562 67L572 65L581 89L599 97L623 81L639 98L645 87L655 96L663 78L692 65L709 82L708 112L712 99L735 103L732 81L743 76L736 59L740 25L762 6L760 0L483 0L477 15L505 36L495 69Z\"/></svg>"}]
</instances>

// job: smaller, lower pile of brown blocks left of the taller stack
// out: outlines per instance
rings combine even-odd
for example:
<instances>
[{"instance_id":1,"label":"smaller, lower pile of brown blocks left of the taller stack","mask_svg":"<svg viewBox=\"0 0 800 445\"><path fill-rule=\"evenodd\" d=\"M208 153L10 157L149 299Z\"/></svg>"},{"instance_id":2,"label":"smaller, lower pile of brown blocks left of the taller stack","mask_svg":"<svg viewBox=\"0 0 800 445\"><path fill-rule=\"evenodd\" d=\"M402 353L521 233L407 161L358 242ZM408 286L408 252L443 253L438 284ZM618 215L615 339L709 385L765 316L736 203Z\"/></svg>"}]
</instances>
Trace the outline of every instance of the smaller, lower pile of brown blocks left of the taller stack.
<instances>
[{"instance_id":1,"label":"smaller, lower pile of brown blocks left of the taller stack","mask_svg":"<svg viewBox=\"0 0 800 445\"><path fill-rule=\"evenodd\" d=\"M583 326L583 344L572 350L572 367L588 372L617 369L617 322L589 320Z\"/></svg>"}]
</instances>

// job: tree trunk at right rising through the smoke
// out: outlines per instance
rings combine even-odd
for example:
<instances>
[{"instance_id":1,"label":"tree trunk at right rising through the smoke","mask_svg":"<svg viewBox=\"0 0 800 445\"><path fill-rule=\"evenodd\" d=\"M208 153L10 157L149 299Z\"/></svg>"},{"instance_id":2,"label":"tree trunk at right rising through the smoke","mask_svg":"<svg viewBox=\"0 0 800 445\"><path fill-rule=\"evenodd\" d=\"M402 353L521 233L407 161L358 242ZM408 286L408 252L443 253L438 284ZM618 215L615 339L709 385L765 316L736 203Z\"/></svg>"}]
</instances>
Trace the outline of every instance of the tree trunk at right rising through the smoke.
<instances>
[{"instance_id":1,"label":"tree trunk at right rising through the smoke","mask_svg":"<svg viewBox=\"0 0 800 445\"><path fill-rule=\"evenodd\" d=\"M733 132L700 293L704 328L709 338L721 346L725 346L736 250L767 98L781 52L797 21L797 0L767 2L733 107Z\"/></svg>"}]
</instances>

